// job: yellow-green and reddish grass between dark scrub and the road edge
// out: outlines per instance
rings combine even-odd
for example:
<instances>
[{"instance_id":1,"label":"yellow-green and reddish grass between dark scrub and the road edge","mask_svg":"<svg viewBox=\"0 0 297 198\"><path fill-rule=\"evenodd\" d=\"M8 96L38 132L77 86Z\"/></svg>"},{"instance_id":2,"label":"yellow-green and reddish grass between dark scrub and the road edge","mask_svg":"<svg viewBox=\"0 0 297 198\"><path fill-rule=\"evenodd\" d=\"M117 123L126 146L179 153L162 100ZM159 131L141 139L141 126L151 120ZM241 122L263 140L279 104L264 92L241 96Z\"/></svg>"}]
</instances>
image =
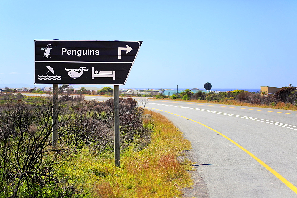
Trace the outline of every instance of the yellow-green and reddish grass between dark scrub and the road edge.
<instances>
[{"instance_id":1,"label":"yellow-green and reddish grass between dark scrub and the road edge","mask_svg":"<svg viewBox=\"0 0 297 198\"><path fill-rule=\"evenodd\" d=\"M179 197L183 187L192 185L187 172L191 162L177 160L190 142L164 116L145 111L146 127L153 129L151 144L139 151L130 146L121 153L121 166L113 157L91 154L88 149L75 157L57 159L57 174L84 192L86 197Z\"/></svg>"}]
</instances>

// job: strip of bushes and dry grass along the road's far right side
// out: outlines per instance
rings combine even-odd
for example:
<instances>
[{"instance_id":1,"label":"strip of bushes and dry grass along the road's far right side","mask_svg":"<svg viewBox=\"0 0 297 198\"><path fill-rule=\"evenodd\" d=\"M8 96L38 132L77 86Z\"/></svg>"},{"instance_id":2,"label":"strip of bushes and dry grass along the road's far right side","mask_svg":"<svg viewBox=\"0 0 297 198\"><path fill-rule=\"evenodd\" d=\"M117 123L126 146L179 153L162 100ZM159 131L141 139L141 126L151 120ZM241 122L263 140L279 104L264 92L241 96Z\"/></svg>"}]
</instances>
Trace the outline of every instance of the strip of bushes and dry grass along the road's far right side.
<instances>
[{"instance_id":1,"label":"strip of bushes and dry grass along the road's far right side","mask_svg":"<svg viewBox=\"0 0 297 198\"><path fill-rule=\"evenodd\" d=\"M264 108L287 109L297 111L297 87L283 87L278 90L275 95L268 96L267 93L255 93L244 90L233 90L230 92L210 92L205 93L198 91L191 92L187 89L178 95L155 96L157 99L163 100L179 100L202 103L218 103L239 106L253 106Z\"/></svg>"}]
</instances>

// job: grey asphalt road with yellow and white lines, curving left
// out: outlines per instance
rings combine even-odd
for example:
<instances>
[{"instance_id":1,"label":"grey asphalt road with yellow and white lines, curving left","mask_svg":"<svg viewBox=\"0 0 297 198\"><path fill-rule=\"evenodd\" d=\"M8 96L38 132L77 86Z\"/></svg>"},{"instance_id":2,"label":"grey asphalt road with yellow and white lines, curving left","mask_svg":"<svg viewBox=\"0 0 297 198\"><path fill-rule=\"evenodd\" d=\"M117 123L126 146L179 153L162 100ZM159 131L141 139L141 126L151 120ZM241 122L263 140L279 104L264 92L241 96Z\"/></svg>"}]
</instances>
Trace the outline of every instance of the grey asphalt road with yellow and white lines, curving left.
<instances>
[{"instance_id":1,"label":"grey asphalt road with yellow and white lines, curving left","mask_svg":"<svg viewBox=\"0 0 297 198\"><path fill-rule=\"evenodd\" d=\"M165 115L192 143L195 185L186 196L297 197L296 111L135 100Z\"/></svg>"}]
</instances>

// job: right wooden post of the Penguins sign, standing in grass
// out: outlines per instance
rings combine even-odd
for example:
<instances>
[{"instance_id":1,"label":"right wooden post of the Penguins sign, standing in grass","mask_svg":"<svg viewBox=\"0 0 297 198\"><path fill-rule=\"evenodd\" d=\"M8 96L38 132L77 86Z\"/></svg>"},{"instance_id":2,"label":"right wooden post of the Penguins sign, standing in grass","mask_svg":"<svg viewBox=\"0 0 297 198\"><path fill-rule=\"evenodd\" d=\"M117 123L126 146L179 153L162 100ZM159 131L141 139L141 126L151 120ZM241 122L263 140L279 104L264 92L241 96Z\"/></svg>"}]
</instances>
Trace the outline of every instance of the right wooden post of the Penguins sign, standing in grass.
<instances>
[{"instance_id":1,"label":"right wooden post of the Penguins sign, standing in grass","mask_svg":"<svg viewBox=\"0 0 297 198\"><path fill-rule=\"evenodd\" d=\"M114 163L120 167L120 95L119 85L113 86Z\"/></svg>"}]
</instances>

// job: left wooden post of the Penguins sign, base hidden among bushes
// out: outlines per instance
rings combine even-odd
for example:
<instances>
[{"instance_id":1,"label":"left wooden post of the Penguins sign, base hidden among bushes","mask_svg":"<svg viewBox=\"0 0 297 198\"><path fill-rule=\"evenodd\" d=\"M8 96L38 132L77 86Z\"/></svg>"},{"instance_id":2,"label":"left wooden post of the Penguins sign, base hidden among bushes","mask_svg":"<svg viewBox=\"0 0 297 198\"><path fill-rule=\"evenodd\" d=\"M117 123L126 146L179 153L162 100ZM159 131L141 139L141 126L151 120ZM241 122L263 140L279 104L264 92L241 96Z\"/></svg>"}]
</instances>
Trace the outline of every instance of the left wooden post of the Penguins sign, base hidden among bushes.
<instances>
[{"instance_id":1,"label":"left wooden post of the Penguins sign, base hidden among bushes","mask_svg":"<svg viewBox=\"0 0 297 198\"><path fill-rule=\"evenodd\" d=\"M59 96L58 84L53 84L53 136L52 136L52 146L53 149L57 148L57 138L58 138L58 96Z\"/></svg>"}]
</instances>

